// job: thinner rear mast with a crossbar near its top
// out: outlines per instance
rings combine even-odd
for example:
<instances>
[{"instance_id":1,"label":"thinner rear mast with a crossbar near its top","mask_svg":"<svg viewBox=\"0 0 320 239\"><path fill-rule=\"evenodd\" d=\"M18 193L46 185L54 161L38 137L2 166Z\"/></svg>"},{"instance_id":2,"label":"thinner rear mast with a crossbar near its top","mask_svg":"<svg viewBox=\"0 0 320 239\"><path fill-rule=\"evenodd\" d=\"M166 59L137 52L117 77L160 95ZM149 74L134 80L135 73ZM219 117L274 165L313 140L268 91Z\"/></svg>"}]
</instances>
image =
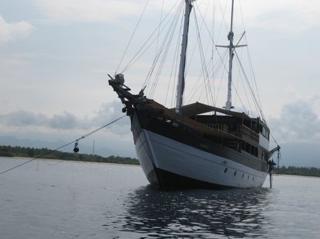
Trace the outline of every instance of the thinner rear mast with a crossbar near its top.
<instances>
[{"instance_id":1,"label":"thinner rear mast with a crossbar near its top","mask_svg":"<svg viewBox=\"0 0 320 239\"><path fill-rule=\"evenodd\" d=\"M232 31L233 20L234 20L234 0L232 0L232 7L231 7L230 32L227 35L227 40L230 41L230 44L229 44L229 73L227 77L227 102L225 103L225 109L227 109L228 111L234 108L231 103L232 59L234 57L234 32Z\"/></svg>"}]
</instances>

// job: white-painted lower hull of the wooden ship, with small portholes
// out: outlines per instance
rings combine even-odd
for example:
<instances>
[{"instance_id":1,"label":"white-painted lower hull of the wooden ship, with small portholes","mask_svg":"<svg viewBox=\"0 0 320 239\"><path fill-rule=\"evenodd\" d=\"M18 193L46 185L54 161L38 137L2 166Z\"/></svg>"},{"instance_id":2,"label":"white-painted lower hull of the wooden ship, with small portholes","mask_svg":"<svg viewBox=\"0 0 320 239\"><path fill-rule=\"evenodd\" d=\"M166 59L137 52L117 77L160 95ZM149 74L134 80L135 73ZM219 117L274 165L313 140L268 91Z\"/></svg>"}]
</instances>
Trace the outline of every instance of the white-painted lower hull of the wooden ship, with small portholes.
<instances>
[{"instance_id":1,"label":"white-painted lower hull of the wooden ship, with small portholes","mask_svg":"<svg viewBox=\"0 0 320 239\"><path fill-rule=\"evenodd\" d=\"M267 177L265 172L145 129L141 129L136 139L136 153L151 184L161 184L156 169L190 180L238 188L261 187Z\"/></svg>"}]
</instances>

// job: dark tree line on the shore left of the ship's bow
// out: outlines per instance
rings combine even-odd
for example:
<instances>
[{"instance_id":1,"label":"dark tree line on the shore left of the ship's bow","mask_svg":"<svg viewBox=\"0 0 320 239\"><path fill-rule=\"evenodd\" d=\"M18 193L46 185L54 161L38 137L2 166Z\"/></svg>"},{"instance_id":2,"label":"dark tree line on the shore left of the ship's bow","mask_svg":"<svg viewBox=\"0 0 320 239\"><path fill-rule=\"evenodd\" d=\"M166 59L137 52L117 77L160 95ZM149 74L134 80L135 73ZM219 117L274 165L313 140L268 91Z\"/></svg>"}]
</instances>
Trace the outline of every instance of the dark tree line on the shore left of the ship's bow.
<instances>
[{"instance_id":1,"label":"dark tree line on the shore left of the ship's bow","mask_svg":"<svg viewBox=\"0 0 320 239\"><path fill-rule=\"evenodd\" d=\"M36 149L33 147L0 146L0 156L5 157L27 157L27 158L48 158L60 160L86 161L97 163L120 163L125 165L139 165L136 158L108 156L103 157L97 154L75 154L61 151L53 151L47 148Z\"/></svg>"}]
</instances>

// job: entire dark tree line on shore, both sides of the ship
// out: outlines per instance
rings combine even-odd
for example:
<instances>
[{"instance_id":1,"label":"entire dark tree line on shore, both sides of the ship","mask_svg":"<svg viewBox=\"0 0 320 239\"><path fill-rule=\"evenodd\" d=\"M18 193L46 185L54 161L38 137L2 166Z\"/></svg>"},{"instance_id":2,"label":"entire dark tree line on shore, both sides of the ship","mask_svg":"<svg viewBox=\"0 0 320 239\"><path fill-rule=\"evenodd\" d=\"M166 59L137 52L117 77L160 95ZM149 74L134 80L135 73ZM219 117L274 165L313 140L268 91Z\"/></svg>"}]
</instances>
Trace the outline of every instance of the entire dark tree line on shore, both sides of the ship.
<instances>
[{"instance_id":1,"label":"entire dark tree line on shore, both sides of the ship","mask_svg":"<svg viewBox=\"0 0 320 239\"><path fill-rule=\"evenodd\" d=\"M28 158L51 158L60 160L74 160L97 163L120 163L125 165L139 165L136 158L108 156L103 157L97 154L75 154L61 151L53 151L47 148L36 149L33 147L0 146L0 156L5 157L28 157ZM286 175L304 175L320 177L320 169L316 167L276 167L275 173Z\"/></svg>"}]
</instances>

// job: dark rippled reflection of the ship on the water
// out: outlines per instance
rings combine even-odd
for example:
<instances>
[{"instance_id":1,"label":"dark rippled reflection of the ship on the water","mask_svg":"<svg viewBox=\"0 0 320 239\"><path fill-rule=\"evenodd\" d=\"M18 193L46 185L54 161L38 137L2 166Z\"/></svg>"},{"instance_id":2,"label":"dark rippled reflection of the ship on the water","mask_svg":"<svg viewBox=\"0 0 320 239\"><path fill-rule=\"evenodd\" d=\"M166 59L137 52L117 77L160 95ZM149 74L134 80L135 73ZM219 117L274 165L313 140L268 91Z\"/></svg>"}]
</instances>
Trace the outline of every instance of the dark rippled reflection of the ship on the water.
<instances>
[{"instance_id":1,"label":"dark rippled reflection of the ship on the water","mask_svg":"<svg viewBox=\"0 0 320 239\"><path fill-rule=\"evenodd\" d=\"M231 191L160 191L138 188L127 198L122 231L148 237L265 236L270 225L267 188Z\"/></svg>"}]
</instances>

